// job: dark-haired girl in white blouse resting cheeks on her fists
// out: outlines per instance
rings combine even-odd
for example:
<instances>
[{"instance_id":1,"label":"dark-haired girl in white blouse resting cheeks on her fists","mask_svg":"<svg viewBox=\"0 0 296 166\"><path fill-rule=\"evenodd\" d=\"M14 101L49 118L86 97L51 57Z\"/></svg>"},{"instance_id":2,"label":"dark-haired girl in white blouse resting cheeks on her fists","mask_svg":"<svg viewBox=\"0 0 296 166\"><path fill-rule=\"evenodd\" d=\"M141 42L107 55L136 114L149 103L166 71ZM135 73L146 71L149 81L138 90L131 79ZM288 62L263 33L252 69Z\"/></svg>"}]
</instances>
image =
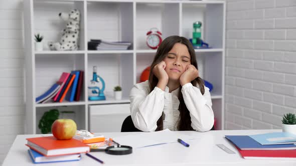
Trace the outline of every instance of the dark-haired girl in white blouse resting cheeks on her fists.
<instances>
[{"instance_id":1,"label":"dark-haired girl in white blouse resting cheeks on her fists","mask_svg":"<svg viewBox=\"0 0 296 166\"><path fill-rule=\"evenodd\" d=\"M161 43L149 80L135 84L129 97L133 124L142 131L208 131L214 124L209 88L185 37L169 36Z\"/></svg>"}]
</instances>

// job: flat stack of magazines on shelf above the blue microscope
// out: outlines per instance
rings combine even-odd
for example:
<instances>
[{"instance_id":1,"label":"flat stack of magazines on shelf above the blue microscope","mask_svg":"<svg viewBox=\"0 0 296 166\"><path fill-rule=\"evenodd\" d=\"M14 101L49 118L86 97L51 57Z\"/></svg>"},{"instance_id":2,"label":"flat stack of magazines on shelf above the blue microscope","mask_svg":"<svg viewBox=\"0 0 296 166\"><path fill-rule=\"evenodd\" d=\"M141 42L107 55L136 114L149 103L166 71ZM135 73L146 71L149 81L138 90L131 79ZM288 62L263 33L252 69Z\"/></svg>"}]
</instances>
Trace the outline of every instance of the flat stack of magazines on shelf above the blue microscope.
<instances>
[{"instance_id":1,"label":"flat stack of magazines on shelf above the blue microscope","mask_svg":"<svg viewBox=\"0 0 296 166\"><path fill-rule=\"evenodd\" d=\"M101 39L91 39L88 41L88 50L125 50L131 45L127 41L105 41Z\"/></svg>"}]
</instances>

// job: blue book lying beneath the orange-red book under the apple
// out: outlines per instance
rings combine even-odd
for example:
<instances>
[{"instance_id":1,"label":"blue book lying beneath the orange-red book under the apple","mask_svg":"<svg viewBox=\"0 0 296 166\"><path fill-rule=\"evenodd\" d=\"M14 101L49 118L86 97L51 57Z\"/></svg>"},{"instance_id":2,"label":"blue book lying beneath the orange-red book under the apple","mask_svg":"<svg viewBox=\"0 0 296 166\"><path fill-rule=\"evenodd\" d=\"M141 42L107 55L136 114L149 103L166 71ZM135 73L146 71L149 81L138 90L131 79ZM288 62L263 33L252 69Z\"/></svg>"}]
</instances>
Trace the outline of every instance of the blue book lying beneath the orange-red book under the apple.
<instances>
[{"instance_id":1,"label":"blue book lying beneath the orange-red book under the apple","mask_svg":"<svg viewBox=\"0 0 296 166\"><path fill-rule=\"evenodd\" d=\"M44 156L31 148L28 149L28 153L29 153L33 163L78 161L81 158L80 153L57 155L57 156Z\"/></svg>"}]
</instances>

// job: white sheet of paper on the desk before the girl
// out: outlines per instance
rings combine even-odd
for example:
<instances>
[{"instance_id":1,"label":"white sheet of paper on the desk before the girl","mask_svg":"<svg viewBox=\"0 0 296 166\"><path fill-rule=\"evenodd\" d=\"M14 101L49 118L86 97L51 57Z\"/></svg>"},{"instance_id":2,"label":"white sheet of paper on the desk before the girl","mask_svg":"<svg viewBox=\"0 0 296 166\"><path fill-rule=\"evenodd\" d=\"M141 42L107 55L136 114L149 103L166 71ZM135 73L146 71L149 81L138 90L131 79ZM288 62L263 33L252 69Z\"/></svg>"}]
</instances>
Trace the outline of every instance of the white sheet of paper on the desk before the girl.
<instances>
[{"instance_id":1,"label":"white sheet of paper on the desk before the girl","mask_svg":"<svg viewBox=\"0 0 296 166\"><path fill-rule=\"evenodd\" d=\"M184 135L184 134L177 134L171 131L170 129L164 129L164 130L155 131L155 132L143 132L136 135L118 136L118 137L114 137L113 139L122 145L129 145L129 146L132 146L133 148L136 148L136 147L144 147L144 146L151 146L151 145L157 145L157 144L177 142L178 138L182 140L189 140L189 139L194 139L195 137Z\"/></svg>"}]
</instances>

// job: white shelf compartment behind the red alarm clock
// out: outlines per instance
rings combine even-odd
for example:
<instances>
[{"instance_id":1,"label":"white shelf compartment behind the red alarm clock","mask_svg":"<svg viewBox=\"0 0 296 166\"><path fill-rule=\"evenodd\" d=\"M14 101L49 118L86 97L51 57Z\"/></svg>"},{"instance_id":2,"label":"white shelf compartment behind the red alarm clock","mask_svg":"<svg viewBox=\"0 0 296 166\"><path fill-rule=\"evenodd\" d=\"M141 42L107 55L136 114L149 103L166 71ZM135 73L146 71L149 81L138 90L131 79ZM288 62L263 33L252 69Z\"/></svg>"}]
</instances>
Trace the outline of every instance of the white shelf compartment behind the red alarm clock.
<instances>
[{"instance_id":1,"label":"white shelf compartment behind the red alarm clock","mask_svg":"<svg viewBox=\"0 0 296 166\"><path fill-rule=\"evenodd\" d=\"M162 32L163 39L179 34L179 3L167 2L136 2L136 49L149 49L146 44L146 33L153 27Z\"/></svg>"}]
</instances>

